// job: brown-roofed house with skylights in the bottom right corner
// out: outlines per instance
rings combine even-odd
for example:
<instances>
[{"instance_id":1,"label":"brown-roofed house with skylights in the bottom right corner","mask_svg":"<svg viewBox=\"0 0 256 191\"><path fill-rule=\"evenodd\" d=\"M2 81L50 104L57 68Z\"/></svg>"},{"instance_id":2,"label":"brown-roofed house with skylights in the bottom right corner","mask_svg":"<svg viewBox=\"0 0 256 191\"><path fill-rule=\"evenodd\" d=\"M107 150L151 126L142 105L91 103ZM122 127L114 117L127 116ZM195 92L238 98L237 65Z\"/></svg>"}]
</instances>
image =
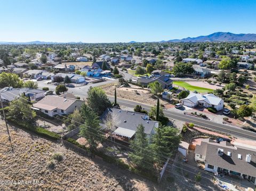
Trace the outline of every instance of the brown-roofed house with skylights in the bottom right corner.
<instances>
[{"instance_id":1,"label":"brown-roofed house with skylights in the bottom right corner","mask_svg":"<svg viewBox=\"0 0 256 191\"><path fill-rule=\"evenodd\" d=\"M196 145L195 160L205 162L205 170L219 175L235 176L250 180L256 185L256 150L245 144L217 143L207 138Z\"/></svg>"}]
</instances>

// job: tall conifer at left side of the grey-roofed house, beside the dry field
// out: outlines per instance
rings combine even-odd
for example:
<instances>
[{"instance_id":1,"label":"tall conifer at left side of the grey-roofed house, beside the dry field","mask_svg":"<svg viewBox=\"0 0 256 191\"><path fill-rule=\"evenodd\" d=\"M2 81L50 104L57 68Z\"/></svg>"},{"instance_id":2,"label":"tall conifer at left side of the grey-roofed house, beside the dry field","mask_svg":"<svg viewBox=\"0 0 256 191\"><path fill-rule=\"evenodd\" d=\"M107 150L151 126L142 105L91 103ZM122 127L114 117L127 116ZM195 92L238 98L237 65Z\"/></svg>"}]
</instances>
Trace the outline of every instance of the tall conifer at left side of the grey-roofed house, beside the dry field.
<instances>
[{"instance_id":1,"label":"tall conifer at left side of the grey-roofed house, beside the dry field","mask_svg":"<svg viewBox=\"0 0 256 191\"><path fill-rule=\"evenodd\" d=\"M84 124L80 126L79 134L87 140L91 150L96 150L98 144L103 141L99 117L85 104L81 106L80 110Z\"/></svg>"}]
</instances>

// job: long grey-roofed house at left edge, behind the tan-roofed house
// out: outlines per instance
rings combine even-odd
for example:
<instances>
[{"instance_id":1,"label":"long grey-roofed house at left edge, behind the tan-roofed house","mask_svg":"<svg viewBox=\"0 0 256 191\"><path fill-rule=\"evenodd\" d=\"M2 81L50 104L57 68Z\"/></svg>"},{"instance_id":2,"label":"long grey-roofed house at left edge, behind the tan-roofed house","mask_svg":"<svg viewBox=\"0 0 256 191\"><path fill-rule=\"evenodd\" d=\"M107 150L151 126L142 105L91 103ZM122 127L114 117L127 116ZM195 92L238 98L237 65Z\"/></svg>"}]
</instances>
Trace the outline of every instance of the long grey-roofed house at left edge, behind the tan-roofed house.
<instances>
[{"instance_id":1,"label":"long grey-roofed house at left edge, behind the tan-roofed house","mask_svg":"<svg viewBox=\"0 0 256 191\"><path fill-rule=\"evenodd\" d=\"M30 101L37 101L44 97L44 90L41 89L5 87L0 92L2 101L7 103L19 98L24 93L30 98Z\"/></svg>"}]
</instances>

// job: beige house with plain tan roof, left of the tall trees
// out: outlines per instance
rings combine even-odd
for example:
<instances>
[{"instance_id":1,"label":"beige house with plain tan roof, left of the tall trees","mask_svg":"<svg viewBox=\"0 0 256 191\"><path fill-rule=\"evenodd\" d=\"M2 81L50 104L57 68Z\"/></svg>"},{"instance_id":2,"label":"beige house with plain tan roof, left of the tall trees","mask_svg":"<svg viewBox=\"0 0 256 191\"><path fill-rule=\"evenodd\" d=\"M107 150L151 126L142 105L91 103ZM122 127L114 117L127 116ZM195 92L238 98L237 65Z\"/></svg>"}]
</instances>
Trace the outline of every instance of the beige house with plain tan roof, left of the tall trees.
<instances>
[{"instance_id":1,"label":"beige house with plain tan roof, left of the tall trees","mask_svg":"<svg viewBox=\"0 0 256 191\"><path fill-rule=\"evenodd\" d=\"M35 109L39 109L45 114L53 117L56 114L69 114L79 109L83 101L59 96L48 95L39 102L33 104Z\"/></svg>"}]
</instances>

